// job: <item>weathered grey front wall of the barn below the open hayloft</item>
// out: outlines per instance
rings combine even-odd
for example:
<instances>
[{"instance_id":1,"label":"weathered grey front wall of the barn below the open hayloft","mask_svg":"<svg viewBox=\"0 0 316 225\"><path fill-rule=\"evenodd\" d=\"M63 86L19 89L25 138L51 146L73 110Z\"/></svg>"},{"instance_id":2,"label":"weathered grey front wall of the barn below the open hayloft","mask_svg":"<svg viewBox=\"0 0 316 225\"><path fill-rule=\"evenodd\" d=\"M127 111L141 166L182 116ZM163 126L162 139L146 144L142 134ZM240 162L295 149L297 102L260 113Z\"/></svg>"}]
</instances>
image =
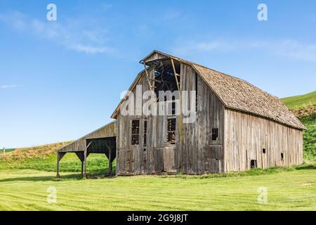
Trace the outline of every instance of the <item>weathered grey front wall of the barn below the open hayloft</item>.
<instances>
[{"instance_id":1,"label":"weathered grey front wall of the barn below the open hayloft","mask_svg":"<svg viewBox=\"0 0 316 225\"><path fill-rule=\"evenodd\" d=\"M150 72L150 77L153 76L153 72ZM149 89L145 74L138 84L142 84L143 92ZM223 172L225 108L195 70L189 65L181 64L180 89L195 91L196 86L197 120L184 124L183 117L176 117L175 145L166 141L169 116L117 115L117 174ZM136 89L132 91L136 93ZM131 120L140 120L140 143L136 146L131 146ZM143 147L141 132L144 120L147 120L146 148ZM220 131L217 141L211 141L212 128Z\"/></svg>"}]
</instances>

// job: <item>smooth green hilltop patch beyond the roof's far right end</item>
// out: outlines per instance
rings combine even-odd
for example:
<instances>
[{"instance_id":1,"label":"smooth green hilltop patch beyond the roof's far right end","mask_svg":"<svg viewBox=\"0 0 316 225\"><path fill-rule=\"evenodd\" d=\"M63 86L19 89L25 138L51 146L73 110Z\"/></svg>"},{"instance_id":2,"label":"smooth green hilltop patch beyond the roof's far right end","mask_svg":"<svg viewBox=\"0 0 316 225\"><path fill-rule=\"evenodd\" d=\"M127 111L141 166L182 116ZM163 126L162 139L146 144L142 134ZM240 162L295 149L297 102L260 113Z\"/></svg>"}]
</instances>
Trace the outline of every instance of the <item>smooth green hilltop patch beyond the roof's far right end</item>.
<instances>
[{"instance_id":1,"label":"smooth green hilltop patch beyond the roof's far right end","mask_svg":"<svg viewBox=\"0 0 316 225\"><path fill-rule=\"evenodd\" d=\"M301 96L282 98L282 101L291 109L316 106L316 91Z\"/></svg>"}]
</instances>

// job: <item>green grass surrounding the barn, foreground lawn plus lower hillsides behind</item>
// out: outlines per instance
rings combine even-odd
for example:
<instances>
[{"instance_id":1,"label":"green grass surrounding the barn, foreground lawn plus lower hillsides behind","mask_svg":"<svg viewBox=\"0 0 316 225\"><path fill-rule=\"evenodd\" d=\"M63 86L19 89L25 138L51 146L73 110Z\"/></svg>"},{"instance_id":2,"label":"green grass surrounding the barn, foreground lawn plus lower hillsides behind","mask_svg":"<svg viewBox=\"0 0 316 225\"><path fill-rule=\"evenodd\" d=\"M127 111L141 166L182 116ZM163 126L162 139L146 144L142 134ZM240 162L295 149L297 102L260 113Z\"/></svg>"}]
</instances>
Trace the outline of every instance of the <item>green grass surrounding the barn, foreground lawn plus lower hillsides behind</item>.
<instances>
[{"instance_id":1,"label":"green grass surrounding the barn, foreground lawn plus lower hillsides behind","mask_svg":"<svg viewBox=\"0 0 316 225\"><path fill-rule=\"evenodd\" d=\"M65 143L17 149L0 155L0 210L316 210L316 115L301 121L308 127L305 163L291 168L106 178L105 155L92 154L91 179L83 179L81 162L67 153L62 178L55 179L55 149ZM56 204L47 202L50 187L57 191ZM267 204L258 203L259 187L268 190Z\"/></svg>"}]
</instances>

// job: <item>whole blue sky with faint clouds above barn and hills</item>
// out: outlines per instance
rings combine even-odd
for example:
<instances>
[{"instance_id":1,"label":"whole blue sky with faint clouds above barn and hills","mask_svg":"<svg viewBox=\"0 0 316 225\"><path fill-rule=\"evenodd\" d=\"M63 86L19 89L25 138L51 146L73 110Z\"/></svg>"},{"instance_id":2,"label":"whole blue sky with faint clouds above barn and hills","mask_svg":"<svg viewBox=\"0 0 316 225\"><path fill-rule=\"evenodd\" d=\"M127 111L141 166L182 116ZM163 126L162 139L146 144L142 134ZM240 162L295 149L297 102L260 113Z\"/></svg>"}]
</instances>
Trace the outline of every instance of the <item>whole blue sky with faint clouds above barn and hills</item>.
<instances>
[{"instance_id":1,"label":"whole blue sky with faint clouds above barn and hills","mask_svg":"<svg viewBox=\"0 0 316 225\"><path fill-rule=\"evenodd\" d=\"M57 6L57 21L46 6ZM257 19L267 4L268 21ZM0 148L110 122L153 49L279 97L316 90L316 1L0 0Z\"/></svg>"}]
</instances>

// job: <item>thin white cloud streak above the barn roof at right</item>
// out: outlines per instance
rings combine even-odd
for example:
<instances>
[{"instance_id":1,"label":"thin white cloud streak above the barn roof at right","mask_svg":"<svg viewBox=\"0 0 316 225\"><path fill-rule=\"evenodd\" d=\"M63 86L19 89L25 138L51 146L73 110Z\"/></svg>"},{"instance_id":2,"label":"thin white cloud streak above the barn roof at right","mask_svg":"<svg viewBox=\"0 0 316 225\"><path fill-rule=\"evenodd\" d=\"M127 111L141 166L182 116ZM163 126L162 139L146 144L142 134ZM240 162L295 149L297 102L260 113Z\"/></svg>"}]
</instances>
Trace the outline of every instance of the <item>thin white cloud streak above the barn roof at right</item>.
<instances>
[{"instance_id":1,"label":"thin white cloud streak above the barn roof at right","mask_svg":"<svg viewBox=\"0 0 316 225\"><path fill-rule=\"evenodd\" d=\"M209 40L209 41L178 41L173 51L178 54L213 53L244 51L254 49L265 51L278 56L296 60L316 62L316 44L303 44L298 41L285 39L277 41L266 40Z\"/></svg>"}]
</instances>

